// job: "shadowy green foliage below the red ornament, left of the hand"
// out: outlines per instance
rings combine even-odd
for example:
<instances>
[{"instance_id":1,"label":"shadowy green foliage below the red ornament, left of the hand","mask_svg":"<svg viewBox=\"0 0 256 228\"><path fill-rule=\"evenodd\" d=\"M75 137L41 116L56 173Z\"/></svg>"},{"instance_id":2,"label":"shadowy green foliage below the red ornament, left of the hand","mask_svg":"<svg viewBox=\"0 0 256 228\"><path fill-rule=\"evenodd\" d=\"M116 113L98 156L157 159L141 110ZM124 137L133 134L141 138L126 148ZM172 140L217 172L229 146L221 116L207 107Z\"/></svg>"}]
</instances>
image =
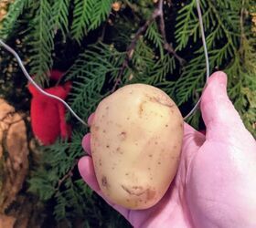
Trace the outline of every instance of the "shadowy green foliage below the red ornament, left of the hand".
<instances>
[{"instance_id":1,"label":"shadowy green foliage below the red ornament, left of the hand","mask_svg":"<svg viewBox=\"0 0 256 228\"><path fill-rule=\"evenodd\" d=\"M116 220L120 216L80 179L76 163L84 154L80 146L84 133L84 129L74 131L71 143L58 140L41 148L40 164L31 173L28 191L37 193L41 201L52 199L53 215L65 227L77 227L77 221L82 227L129 227L123 220Z\"/></svg>"}]
</instances>

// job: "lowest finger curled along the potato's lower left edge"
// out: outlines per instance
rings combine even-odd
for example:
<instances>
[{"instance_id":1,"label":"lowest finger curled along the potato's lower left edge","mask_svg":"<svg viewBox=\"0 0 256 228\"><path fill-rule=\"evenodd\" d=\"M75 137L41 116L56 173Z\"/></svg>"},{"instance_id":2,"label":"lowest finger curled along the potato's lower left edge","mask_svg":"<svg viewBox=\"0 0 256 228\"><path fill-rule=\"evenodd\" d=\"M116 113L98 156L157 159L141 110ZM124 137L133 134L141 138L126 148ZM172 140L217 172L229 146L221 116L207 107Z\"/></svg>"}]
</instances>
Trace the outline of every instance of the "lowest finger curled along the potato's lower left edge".
<instances>
[{"instance_id":1,"label":"lowest finger curled along the potato's lower left edge","mask_svg":"<svg viewBox=\"0 0 256 228\"><path fill-rule=\"evenodd\" d=\"M116 211L123 214L124 217L127 217L128 210L123 208L122 206L116 205L112 202L110 202L101 192L99 183L96 178L96 174L93 167L93 162L91 157L85 156L80 159L78 163L80 175L94 192L97 192L107 203L109 203Z\"/></svg>"}]
</instances>

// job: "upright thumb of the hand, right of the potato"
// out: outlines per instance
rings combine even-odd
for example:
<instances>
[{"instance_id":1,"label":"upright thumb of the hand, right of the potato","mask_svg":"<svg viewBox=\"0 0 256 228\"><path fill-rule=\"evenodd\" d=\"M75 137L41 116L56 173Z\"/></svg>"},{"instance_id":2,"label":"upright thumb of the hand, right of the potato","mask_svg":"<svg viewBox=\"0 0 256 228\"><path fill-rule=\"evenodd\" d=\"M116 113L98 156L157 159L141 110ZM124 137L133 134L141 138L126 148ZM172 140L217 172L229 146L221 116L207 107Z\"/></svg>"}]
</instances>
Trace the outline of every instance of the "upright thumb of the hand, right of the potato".
<instances>
[{"instance_id":1,"label":"upright thumb of the hand, right of the potato","mask_svg":"<svg viewBox=\"0 0 256 228\"><path fill-rule=\"evenodd\" d=\"M200 106L207 127L207 140L223 141L230 135L239 136L247 131L228 97L225 73L216 72L208 79Z\"/></svg>"}]
</instances>

